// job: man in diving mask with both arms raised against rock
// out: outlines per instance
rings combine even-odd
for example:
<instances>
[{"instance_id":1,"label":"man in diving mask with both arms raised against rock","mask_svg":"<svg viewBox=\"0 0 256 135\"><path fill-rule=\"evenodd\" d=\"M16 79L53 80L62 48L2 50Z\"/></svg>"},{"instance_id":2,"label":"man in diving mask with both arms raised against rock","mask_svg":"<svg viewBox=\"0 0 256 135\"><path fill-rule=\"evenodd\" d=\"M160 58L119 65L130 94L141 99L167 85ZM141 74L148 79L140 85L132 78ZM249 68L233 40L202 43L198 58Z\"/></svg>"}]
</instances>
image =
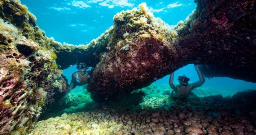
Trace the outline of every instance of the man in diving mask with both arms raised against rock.
<instances>
[{"instance_id":1,"label":"man in diving mask with both arms raised against rock","mask_svg":"<svg viewBox=\"0 0 256 135\"><path fill-rule=\"evenodd\" d=\"M205 79L200 72L199 68L197 65L194 65L195 70L197 71L199 81L194 82L192 84L189 84L189 78L187 78L186 75L182 74L178 76L178 82L180 83L179 85L175 86L173 84L173 74L172 72L170 79L169 79L169 84L171 88L173 89L171 96L172 98L178 98L178 99L184 99L187 98L190 95L191 90L193 90L196 87L202 86L205 82Z\"/></svg>"}]
</instances>

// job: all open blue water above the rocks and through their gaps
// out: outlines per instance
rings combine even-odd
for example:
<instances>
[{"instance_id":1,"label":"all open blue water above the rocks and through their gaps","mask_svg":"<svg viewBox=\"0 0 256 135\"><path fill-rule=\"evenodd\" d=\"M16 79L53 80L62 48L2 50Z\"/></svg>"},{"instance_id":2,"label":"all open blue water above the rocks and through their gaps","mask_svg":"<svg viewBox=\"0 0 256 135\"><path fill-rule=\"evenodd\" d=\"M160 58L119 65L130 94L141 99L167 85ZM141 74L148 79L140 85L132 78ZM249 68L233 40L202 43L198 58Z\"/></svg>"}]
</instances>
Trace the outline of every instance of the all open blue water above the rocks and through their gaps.
<instances>
[{"instance_id":1,"label":"all open blue water above the rocks and through their gaps","mask_svg":"<svg viewBox=\"0 0 256 135\"><path fill-rule=\"evenodd\" d=\"M107 1L107 2L106 2ZM160 17L169 25L185 20L195 8L194 0L21 0L30 12L36 15L37 25L48 37L56 41L79 45L96 39L113 24L116 13L137 7L146 2L155 17ZM63 74L70 81L76 68L65 69ZM175 72L175 80L185 73L191 82L199 78L193 65L185 66ZM154 82L158 86L168 85L169 75ZM243 91L255 89L256 84L227 77L216 77L208 80L202 87L212 87L216 91Z\"/></svg>"}]
</instances>

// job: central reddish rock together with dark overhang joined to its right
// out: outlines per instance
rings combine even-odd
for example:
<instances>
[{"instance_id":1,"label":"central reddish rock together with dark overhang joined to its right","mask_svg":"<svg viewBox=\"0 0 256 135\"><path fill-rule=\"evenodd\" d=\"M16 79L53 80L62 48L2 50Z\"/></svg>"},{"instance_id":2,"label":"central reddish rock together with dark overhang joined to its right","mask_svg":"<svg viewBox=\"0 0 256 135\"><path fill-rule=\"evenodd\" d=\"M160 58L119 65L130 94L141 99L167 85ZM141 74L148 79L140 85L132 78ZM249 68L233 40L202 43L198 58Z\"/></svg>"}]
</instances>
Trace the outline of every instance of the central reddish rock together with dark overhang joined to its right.
<instances>
[{"instance_id":1,"label":"central reddish rock together with dark overhang joined to its right","mask_svg":"<svg viewBox=\"0 0 256 135\"><path fill-rule=\"evenodd\" d=\"M87 87L96 95L92 97L130 93L189 63L218 69L218 76L255 82L255 2L196 2L197 9L175 28L147 12L145 4L116 14L109 52Z\"/></svg>"}]
</instances>

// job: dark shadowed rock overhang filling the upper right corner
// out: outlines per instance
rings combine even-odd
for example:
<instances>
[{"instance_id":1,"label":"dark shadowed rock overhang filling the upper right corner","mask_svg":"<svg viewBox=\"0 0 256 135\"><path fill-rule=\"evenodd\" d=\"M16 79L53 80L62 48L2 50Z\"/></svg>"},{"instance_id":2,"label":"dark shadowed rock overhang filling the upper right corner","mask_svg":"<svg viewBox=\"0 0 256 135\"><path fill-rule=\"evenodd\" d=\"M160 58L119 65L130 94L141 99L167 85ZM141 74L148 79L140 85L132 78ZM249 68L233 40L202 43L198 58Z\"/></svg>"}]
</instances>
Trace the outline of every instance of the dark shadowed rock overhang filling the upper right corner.
<instances>
[{"instance_id":1,"label":"dark shadowed rock overhang filling the upper right corner","mask_svg":"<svg viewBox=\"0 0 256 135\"><path fill-rule=\"evenodd\" d=\"M198 0L197 5L195 19L179 32L179 45L194 63L207 65L200 68L205 77L256 82L255 0Z\"/></svg>"}]
</instances>

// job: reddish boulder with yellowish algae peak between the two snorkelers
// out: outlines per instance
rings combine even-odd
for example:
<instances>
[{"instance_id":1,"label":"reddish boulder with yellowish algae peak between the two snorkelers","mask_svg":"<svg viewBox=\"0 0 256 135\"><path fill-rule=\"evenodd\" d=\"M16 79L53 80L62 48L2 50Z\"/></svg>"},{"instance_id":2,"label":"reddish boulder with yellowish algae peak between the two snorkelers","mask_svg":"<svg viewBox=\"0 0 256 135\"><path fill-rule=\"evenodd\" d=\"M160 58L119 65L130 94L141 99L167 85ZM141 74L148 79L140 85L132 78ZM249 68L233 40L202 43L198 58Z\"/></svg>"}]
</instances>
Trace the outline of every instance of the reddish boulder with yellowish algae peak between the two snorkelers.
<instances>
[{"instance_id":1,"label":"reddish boulder with yellowish algae peak between the two snorkelers","mask_svg":"<svg viewBox=\"0 0 256 135\"><path fill-rule=\"evenodd\" d=\"M167 75L172 64L176 68L186 64L176 60L177 32L148 12L145 3L116 14L111 31L109 52L103 54L87 86L96 95L92 97L131 93Z\"/></svg>"}]
</instances>

